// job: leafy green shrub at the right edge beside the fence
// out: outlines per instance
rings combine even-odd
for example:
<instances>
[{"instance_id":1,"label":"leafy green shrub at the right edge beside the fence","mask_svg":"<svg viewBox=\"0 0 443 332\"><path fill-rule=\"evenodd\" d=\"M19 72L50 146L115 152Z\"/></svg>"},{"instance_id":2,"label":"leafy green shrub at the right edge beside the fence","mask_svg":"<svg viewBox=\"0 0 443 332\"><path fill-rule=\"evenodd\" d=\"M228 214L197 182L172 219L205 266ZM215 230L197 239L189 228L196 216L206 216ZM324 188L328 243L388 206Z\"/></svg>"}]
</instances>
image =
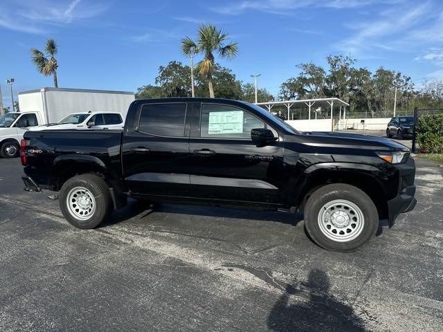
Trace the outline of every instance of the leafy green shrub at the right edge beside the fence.
<instances>
[{"instance_id":1,"label":"leafy green shrub at the right edge beside the fence","mask_svg":"<svg viewBox=\"0 0 443 332\"><path fill-rule=\"evenodd\" d=\"M419 117L417 142L422 152L443 154L443 113Z\"/></svg>"}]
</instances>

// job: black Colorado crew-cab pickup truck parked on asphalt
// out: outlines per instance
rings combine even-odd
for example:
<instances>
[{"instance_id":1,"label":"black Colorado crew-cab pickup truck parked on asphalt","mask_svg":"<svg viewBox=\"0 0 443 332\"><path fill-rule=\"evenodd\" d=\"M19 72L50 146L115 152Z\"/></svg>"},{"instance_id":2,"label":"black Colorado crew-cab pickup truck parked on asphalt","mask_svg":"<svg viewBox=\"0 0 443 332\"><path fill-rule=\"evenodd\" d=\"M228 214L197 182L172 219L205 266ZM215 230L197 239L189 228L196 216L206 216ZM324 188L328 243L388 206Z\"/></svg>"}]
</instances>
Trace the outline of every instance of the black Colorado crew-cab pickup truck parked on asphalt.
<instances>
[{"instance_id":1,"label":"black Colorado crew-cab pickup truck parked on asphalt","mask_svg":"<svg viewBox=\"0 0 443 332\"><path fill-rule=\"evenodd\" d=\"M415 206L404 145L299 132L255 104L206 98L134 101L121 131L28 131L25 190L59 193L77 228L95 228L127 197L304 213L318 245L352 251Z\"/></svg>"}]
</instances>

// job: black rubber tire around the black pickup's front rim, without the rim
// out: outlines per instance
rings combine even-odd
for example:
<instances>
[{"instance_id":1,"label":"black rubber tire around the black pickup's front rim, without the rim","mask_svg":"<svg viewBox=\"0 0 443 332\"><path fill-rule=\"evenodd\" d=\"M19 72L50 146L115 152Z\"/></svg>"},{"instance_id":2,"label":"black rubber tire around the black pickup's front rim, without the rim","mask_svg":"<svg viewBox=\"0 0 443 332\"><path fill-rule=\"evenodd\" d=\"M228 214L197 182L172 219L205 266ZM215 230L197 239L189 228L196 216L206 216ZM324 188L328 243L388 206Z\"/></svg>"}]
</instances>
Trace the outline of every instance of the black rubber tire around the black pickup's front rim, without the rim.
<instances>
[{"instance_id":1,"label":"black rubber tire around the black pickup's front rim, without the rim","mask_svg":"<svg viewBox=\"0 0 443 332\"><path fill-rule=\"evenodd\" d=\"M320 229L320 223L318 221L319 214L323 212L322 209L327 203L336 200L345 200L353 203L363 214L363 225L359 233L356 233L359 235L354 239L350 239L350 241L336 241L331 239L330 235L329 237L325 235L325 231ZM350 212L352 212L352 209ZM350 216L352 216L352 214L350 214ZM309 236L318 246L327 250L340 252L352 252L361 248L365 243L368 243L370 239L375 237L379 224L377 208L370 197L359 188L343 183L325 185L311 194L305 206L304 219L305 228ZM352 221L350 222L352 223ZM325 228L325 226L323 227ZM349 228L349 232L354 231L350 226ZM343 230L347 230L347 228L343 228ZM346 233L344 232L344 234Z\"/></svg>"}]
</instances>

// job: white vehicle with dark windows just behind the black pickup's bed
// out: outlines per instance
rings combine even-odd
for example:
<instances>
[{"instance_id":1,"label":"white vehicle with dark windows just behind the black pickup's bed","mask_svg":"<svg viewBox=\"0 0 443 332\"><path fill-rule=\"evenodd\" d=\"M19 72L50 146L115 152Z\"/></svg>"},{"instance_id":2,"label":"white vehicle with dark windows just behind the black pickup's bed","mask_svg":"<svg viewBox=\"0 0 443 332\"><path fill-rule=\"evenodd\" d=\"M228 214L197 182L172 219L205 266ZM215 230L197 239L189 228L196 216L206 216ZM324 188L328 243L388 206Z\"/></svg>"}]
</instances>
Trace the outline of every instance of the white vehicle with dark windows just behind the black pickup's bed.
<instances>
[{"instance_id":1,"label":"white vehicle with dark windows just behind the black pickup's bed","mask_svg":"<svg viewBox=\"0 0 443 332\"><path fill-rule=\"evenodd\" d=\"M120 113L89 112L73 113L59 122L30 128L30 131L55 129L122 129L123 118Z\"/></svg>"}]
</instances>

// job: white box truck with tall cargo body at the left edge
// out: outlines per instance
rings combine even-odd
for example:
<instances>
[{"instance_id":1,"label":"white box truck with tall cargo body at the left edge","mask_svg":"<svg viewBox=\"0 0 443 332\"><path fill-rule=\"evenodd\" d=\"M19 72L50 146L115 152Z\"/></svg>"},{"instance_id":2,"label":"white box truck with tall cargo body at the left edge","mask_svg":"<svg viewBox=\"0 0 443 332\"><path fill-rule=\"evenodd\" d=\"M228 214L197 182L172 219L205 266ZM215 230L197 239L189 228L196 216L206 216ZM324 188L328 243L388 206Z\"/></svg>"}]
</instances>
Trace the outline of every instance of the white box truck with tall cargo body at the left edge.
<instances>
[{"instance_id":1,"label":"white box truck with tall cargo body at the left edge","mask_svg":"<svg viewBox=\"0 0 443 332\"><path fill-rule=\"evenodd\" d=\"M19 142L30 127L55 123L71 113L120 113L126 118L133 92L85 89L43 88L21 91L20 112L10 112L0 118L0 156L18 155ZM80 128L79 128L80 129Z\"/></svg>"}]
</instances>

